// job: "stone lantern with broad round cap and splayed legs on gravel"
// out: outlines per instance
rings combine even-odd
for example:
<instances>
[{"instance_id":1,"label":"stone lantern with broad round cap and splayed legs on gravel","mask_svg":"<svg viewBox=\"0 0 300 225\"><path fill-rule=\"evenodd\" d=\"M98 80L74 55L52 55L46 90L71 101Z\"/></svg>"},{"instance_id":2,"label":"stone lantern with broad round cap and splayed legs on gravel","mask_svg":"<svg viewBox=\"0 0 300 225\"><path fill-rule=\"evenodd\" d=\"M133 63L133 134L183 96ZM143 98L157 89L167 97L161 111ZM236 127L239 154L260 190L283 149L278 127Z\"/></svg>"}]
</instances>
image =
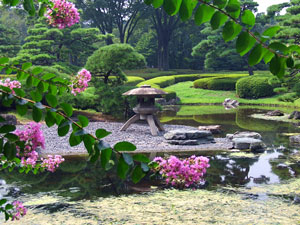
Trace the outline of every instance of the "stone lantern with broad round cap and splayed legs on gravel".
<instances>
[{"instance_id":1,"label":"stone lantern with broad round cap and splayed legs on gravel","mask_svg":"<svg viewBox=\"0 0 300 225\"><path fill-rule=\"evenodd\" d=\"M158 130L164 131L163 126L155 115L158 111L158 108L155 106L155 98L161 98L161 95L166 94L162 90L151 88L150 85L142 85L139 88L123 93L126 96L137 96L138 105L133 108L136 114L121 127L121 131L125 131L131 124L138 120L147 121L153 136L157 136Z\"/></svg>"}]
</instances>

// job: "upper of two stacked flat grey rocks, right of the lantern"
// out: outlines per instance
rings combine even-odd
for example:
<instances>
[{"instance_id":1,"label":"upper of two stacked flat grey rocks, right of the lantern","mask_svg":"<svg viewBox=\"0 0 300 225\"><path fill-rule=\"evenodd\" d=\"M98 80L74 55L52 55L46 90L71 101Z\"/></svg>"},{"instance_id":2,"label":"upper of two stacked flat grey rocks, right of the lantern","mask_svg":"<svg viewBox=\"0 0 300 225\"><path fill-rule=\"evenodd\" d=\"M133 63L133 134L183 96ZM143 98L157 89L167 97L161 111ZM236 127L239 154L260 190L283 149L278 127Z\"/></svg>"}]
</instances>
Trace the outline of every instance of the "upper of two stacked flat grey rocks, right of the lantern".
<instances>
[{"instance_id":1,"label":"upper of two stacked flat grey rocks, right of the lantern","mask_svg":"<svg viewBox=\"0 0 300 225\"><path fill-rule=\"evenodd\" d=\"M207 130L171 130L164 135L166 140L196 140L199 138L212 138L212 133Z\"/></svg>"}]
</instances>

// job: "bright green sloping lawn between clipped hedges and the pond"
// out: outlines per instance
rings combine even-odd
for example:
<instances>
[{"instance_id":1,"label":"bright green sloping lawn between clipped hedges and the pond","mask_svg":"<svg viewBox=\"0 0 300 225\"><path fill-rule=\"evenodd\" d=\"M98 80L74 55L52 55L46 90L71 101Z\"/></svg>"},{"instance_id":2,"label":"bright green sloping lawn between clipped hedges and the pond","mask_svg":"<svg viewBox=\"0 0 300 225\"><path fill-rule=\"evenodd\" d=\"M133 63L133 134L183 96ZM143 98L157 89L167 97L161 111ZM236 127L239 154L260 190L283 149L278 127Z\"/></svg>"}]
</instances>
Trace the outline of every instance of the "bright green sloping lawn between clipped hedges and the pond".
<instances>
[{"instance_id":1,"label":"bright green sloping lawn between clipped hedges and the pond","mask_svg":"<svg viewBox=\"0 0 300 225\"><path fill-rule=\"evenodd\" d=\"M242 104L249 105L280 105L290 107L300 107L290 102L281 102L277 98L280 95L275 95L269 98L260 99L243 99L238 98L235 91L214 91L206 89L193 88L193 82L181 82L164 89L165 91L175 91L180 98L182 104L220 104L226 98L236 99Z\"/></svg>"}]
</instances>

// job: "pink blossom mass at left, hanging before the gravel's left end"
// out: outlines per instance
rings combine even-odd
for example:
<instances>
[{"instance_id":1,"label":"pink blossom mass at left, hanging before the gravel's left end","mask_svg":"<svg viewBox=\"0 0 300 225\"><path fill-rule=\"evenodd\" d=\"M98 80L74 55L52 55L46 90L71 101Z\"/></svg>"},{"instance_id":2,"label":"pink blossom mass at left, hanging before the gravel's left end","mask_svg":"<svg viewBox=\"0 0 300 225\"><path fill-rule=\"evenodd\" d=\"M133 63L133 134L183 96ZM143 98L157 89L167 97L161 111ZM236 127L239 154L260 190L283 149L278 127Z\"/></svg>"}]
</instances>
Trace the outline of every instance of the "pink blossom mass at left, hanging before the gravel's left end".
<instances>
[{"instance_id":1,"label":"pink blossom mass at left, hanging before the gravel's left end","mask_svg":"<svg viewBox=\"0 0 300 225\"><path fill-rule=\"evenodd\" d=\"M19 136L20 141L25 142L24 152L20 152L18 148L17 156L21 158L21 164L23 166L31 166L34 168L37 165L38 153L36 149L38 147L45 148L45 138L41 131L41 124L35 122L29 122L24 130L16 130L14 133ZM41 167L47 168L48 171L54 172L55 168L64 161L64 158L60 155L53 156L48 155L48 158L43 159Z\"/></svg>"}]
</instances>

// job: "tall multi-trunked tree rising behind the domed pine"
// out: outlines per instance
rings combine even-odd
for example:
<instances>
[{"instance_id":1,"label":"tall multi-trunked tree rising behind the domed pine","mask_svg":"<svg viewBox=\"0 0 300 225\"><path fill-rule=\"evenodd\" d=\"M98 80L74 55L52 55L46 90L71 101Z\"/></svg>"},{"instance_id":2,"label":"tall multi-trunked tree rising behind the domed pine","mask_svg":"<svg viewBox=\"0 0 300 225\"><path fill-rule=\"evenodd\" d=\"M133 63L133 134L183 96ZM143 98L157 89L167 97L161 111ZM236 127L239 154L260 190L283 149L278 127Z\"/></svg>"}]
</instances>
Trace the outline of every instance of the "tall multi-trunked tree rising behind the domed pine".
<instances>
[{"instance_id":1,"label":"tall multi-trunked tree rising behind the domed pine","mask_svg":"<svg viewBox=\"0 0 300 225\"><path fill-rule=\"evenodd\" d=\"M111 34L118 29L121 43L128 43L146 5L142 0L76 0L83 10L83 19L102 34ZM107 39L107 44L112 44Z\"/></svg>"}]
</instances>

